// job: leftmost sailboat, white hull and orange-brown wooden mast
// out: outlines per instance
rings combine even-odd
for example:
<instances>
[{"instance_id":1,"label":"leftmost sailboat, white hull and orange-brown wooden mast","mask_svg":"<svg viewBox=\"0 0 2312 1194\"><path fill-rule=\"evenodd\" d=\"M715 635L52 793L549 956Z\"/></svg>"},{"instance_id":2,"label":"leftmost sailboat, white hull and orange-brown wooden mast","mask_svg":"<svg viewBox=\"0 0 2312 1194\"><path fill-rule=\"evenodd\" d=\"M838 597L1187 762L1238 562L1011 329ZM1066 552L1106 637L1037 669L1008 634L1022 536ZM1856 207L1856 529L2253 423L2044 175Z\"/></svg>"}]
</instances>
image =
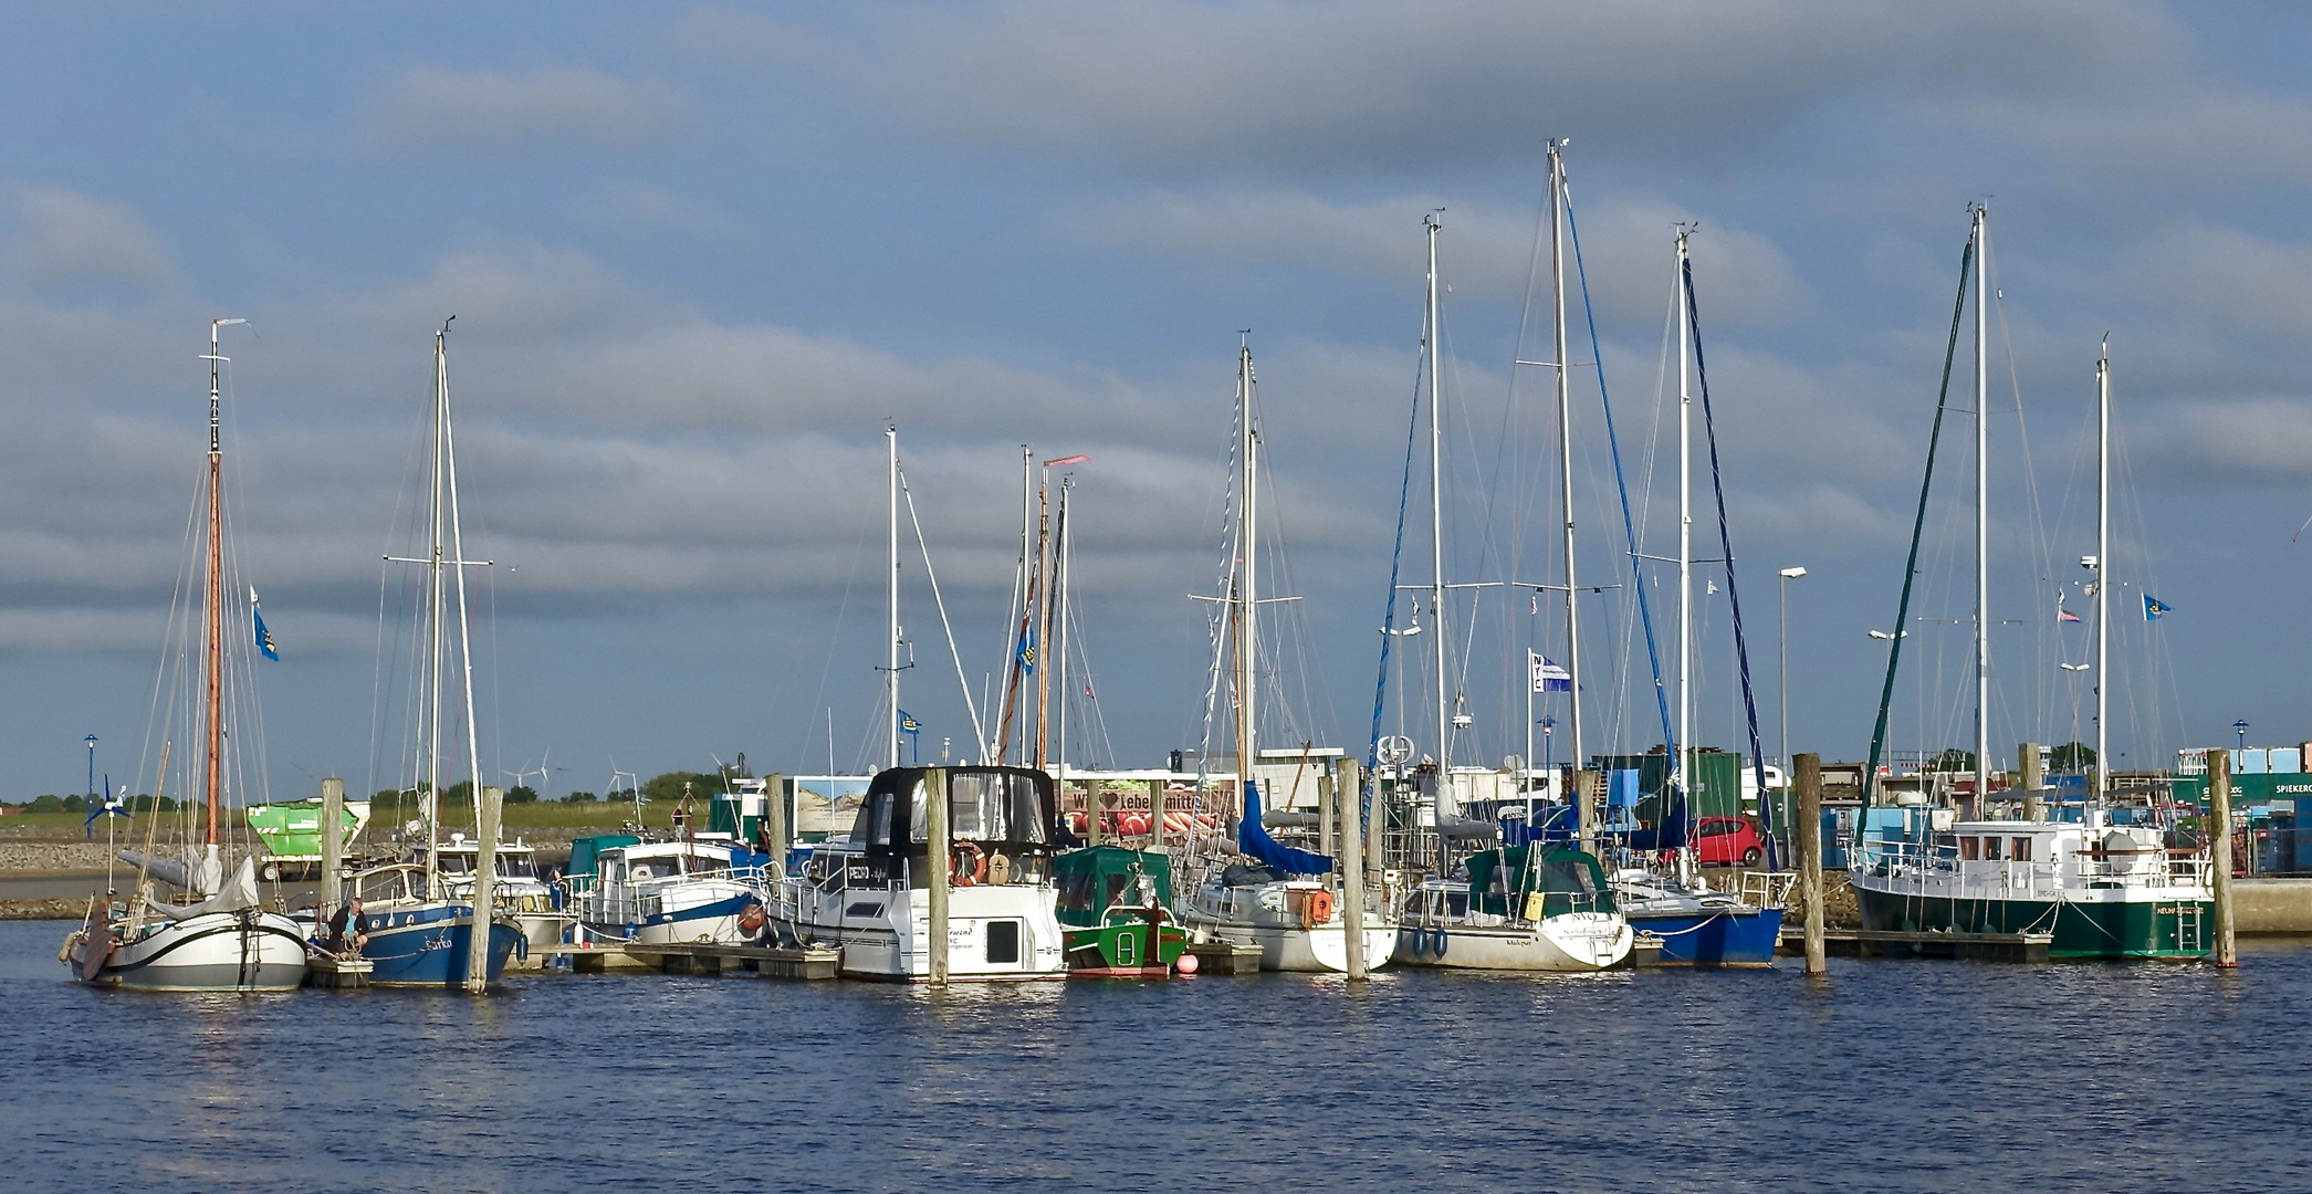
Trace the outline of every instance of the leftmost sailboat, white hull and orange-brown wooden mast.
<instances>
[{"instance_id":1,"label":"leftmost sailboat, white hull and orange-brown wooden mast","mask_svg":"<svg viewBox=\"0 0 2312 1194\"><path fill-rule=\"evenodd\" d=\"M294 921L266 912L257 893L257 868L243 854L231 875L220 854L220 828L229 782L240 775L227 757L227 687L236 657L247 657L254 643L224 643L224 440L220 421L217 331L240 319L208 324L208 479L206 479L206 558L199 629L199 671L190 676L201 690L201 849L180 858L157 858L146 852L123 856L139 865L136 896L127 907L106 898L90 902L88 919L65 939L58 958L74 976L95 986L136 990L296 990L305 983L305 935ZM176 620L171 618L171 625ZM164 664L166 666L166 664ZM166 782L169 743L162 743L160 782ZM155 801L157 803L157 801ZM153 898L148 877L160 877L185 891L185 902Z\"/></svg>"}]
</instances>

